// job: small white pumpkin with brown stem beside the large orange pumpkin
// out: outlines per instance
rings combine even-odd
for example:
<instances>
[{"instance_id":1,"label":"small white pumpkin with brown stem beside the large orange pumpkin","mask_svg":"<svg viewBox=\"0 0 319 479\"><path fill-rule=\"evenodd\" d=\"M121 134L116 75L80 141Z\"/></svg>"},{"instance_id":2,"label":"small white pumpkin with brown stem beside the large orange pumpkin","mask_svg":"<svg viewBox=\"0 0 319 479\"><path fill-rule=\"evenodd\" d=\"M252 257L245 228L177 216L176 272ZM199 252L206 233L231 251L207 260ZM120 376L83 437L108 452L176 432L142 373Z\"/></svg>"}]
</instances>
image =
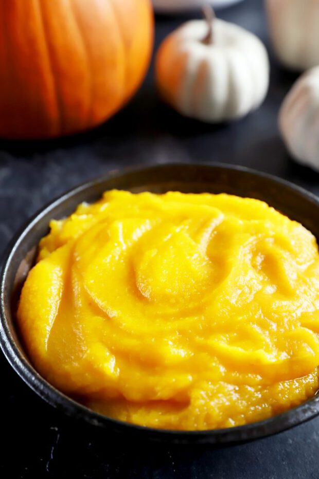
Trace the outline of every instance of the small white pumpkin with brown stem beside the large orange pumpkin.
<instances>
[{"instance_id":1,"label":"small white pumpkin with brown stem beside the large orange pumpkin","mask_svg":"<svg viewBox=\"0 0 319 479\"><path fill-rule=\"evenodd\" d=\"M217 19L190 21L171 33L157 52L155 71L167 103L187 117L212 123L256 109L269 86L262 42Z\"/></svg>"}]
</instances>

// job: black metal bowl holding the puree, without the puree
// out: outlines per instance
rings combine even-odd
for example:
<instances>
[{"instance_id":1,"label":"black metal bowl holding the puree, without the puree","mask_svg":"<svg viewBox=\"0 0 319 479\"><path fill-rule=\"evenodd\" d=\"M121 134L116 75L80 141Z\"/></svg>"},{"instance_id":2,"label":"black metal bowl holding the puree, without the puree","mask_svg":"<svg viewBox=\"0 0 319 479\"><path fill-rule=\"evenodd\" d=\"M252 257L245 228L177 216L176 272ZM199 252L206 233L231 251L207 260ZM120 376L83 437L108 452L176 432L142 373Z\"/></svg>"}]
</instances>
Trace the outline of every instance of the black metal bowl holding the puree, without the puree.
<instances>
[{"instance_id":1,"label":"black metal bowl holding the puree, without the puree","mask_svg":"<svg viewBox=\"0 0 319 479\"><path fill-rule=\"evenodd\" d=\"M319 239L319 200L301 188L275 177L238 166L222 164L166 164L112 172L64 194L36 214L16 235L5 256L0 285L0 342L13 369L39 396L66 414L108 431L133 434L171 443L231 445L284 431L319 414L319 396L270 419L249 425L209 431L167 431L134 426L85 408L51 386L32 367L15 324L21 286L34 263L37 245L48 232L52 218L72 213L82 201L95 201L113 188L133 192L168 190L229 193L267 201L269 205L302 223Z\"/></svg>"}]
</instances>

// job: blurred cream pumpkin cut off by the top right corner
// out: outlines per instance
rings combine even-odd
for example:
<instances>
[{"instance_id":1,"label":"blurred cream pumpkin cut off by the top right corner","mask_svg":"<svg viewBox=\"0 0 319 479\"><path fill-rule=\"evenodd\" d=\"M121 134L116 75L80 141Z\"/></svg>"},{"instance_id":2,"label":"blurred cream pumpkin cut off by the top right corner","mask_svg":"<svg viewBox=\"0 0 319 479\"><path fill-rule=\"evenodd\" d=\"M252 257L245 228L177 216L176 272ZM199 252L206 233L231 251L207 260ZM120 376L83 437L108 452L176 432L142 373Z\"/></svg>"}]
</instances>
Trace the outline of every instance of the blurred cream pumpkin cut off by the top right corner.
<instances>
[{"instance_id":1,"label":"blurred cream pumpkin cut off by the top right corner","mask_svg":"<svg viewBox=\"0 0 319 479\"><path fill-rule=\"evenodd\" d=\"M265 0L278 59L306 70L319 65L319 0Z\"/></svg>"}]
</instances>

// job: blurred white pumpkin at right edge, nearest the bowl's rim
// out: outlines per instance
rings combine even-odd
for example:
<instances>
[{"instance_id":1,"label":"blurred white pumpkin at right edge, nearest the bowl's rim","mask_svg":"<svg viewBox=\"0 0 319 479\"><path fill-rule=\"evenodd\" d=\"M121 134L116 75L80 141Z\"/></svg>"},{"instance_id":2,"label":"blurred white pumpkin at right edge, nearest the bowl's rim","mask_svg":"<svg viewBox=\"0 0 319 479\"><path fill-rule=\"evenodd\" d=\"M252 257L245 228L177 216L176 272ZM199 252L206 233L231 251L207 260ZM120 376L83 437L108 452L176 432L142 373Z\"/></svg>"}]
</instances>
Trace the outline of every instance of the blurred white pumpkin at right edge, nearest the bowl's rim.
<instances>
[{"instance_id":1,"label":"blurred white pumpkin at right edge, nearest the bowl's rim","mask_svg":"<svg viewBox=\"0 0 319 479\"><path fill-rule=\"evenodd\" d=\"M279 127L292 157L319 171L319 67L293 85L281 106Z\"/></svg>"}]
</instances>

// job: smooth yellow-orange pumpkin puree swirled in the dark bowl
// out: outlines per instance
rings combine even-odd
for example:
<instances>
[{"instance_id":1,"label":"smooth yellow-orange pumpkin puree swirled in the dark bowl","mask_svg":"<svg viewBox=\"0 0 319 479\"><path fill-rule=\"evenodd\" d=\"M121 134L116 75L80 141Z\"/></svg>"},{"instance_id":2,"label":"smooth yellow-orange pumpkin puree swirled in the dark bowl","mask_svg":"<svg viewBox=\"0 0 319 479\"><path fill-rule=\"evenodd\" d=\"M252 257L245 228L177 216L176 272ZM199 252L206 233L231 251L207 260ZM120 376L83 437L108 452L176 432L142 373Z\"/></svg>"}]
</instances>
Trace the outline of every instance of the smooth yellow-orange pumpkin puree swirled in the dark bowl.
<instances>
[{"instance_id":1,"label":"smooth yellow-orange pumpkin puree swirled in the dark bowl","mask_svg":"<svg viewBox=\"0 0 319 479\"><path fill-rule=\"evenodd\" d=\"M302 225L255 199L110 191L50 228L18 319L60 390L182 430L242 425L315 394L319 254Z\"/></svg>"}]
</instances>

